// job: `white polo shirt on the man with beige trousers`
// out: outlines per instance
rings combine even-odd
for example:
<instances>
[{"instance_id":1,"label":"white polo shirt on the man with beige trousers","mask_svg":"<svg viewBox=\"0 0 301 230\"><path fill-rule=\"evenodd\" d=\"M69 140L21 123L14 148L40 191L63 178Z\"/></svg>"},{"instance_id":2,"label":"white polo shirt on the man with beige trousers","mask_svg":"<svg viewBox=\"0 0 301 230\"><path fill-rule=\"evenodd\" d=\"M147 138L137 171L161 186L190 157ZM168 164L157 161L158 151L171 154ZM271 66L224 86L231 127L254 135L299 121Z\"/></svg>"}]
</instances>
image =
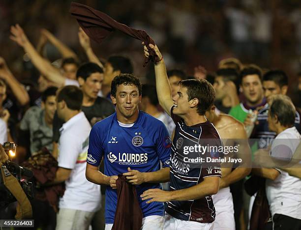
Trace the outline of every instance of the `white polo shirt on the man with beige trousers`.
<instances>
[{"instance_id":1,"label":"white polo shirt on the man with beige trousers","mask_svg":"<svg viewBox=\"0 0 301 230\"><path fill-rule=\"evenodd\" d=\"M100 185L86 179L86 160L91 126L83 112L73 116L60 129L59 167L72 169L65 181L60 208L95 212L100 208Z\"/></svg>"}]
</instances>

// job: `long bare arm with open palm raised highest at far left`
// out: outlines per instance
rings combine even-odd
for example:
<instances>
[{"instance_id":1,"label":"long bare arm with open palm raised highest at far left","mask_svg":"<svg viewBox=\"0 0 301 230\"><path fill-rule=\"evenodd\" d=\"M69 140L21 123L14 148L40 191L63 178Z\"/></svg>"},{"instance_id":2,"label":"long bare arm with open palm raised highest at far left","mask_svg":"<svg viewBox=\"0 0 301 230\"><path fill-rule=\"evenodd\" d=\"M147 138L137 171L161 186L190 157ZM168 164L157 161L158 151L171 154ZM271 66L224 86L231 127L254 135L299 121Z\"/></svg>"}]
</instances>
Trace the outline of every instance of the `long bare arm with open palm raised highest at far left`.
<instances>
[{"instance_id":1,"label":"long bare arm with open palm raised highest at far left","mask_svg":"<svg viewBox=\"0 0 301 230\"><path fill-rule=\"evenodd\" d=\"M44 75L49 81L52 81L60 86L65 83L65 78L60 74L60 70L52 66L45 58L41 57L36 49L28 40L23 29L17 24L10 28L12 35L10 39L15 41L19 46L23 47L24 51L29 54L33 65Z\"/></svg>"}]
</instances>

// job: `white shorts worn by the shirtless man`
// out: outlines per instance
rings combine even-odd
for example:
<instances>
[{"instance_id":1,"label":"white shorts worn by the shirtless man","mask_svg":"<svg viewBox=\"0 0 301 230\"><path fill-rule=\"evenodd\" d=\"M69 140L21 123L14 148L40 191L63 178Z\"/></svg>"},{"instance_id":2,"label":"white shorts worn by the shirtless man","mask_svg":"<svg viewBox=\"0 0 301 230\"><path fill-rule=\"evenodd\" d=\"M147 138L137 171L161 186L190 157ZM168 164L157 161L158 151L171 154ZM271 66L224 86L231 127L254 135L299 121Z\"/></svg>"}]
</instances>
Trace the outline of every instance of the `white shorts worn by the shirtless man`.
<instances>
[{"instance_id":1,"label":"white shorts worn by the shirtless man","mask_svg":"<svg viewBox=\"0 0 301 230\"><path fill-rule=\"evenodd\" d=\"M211 197L215 207L213 230L235 230L234 206L230 188L223 188Z\"/></svg>"}]
</instances>

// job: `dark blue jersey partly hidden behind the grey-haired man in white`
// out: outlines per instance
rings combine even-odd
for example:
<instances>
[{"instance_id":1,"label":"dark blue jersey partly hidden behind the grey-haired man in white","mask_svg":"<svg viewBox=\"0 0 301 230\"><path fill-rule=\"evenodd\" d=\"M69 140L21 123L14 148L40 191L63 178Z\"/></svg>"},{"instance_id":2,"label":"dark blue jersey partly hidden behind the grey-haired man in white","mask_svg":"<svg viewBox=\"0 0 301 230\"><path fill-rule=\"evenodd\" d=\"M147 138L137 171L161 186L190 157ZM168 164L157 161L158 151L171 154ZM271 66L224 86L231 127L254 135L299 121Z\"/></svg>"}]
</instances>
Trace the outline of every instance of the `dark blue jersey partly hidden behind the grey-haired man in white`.
<instances>
[{"instance_id":1,"label":"dark blue jersey partly hidden behind the grey-haired man in white","mask_svg":"<svg viewBox=\"0 0 301 230\"><path fill-rule=\"evenodd\" d=\"M257 141L258 148L267 148L269 145L272 144L273 140L276 137L276 133L269 129L268 123L268 113L269 113L269 105L266 106L258 111L257 120L259 122L258 125L255 127L254 136L255 139L259 139ZM296 111L296 118L295 118L295 127L299 131L301 131L301 124L300 124L300 114Z\"/></svg>"}]
</instances>

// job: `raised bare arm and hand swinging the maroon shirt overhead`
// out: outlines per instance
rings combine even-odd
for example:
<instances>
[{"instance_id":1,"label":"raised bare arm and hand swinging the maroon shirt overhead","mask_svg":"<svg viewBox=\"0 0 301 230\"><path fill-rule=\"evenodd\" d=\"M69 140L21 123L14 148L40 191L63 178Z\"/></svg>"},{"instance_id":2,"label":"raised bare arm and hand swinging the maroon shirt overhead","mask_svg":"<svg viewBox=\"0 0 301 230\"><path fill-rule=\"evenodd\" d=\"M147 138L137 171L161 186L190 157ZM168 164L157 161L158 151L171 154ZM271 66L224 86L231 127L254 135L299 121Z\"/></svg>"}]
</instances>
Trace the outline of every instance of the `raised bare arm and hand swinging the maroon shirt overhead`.
<instances>
[{"instance_id":1,"label":"raised bare arm and hand swinging the maroon shirt overhead","mask_svg":"<svg viewBox=\"0 0 301 230\"><path fill-rule=\"evenodd\" d=\"M144 43L142 43L144 44ZM147 48L144 46L144 55L148 58L150 56L149 49L154 50L156 55L161 59L160 61L154 64L155 75L156 75L156 89L158 100L165 112L170 115L170 109L173 106L174 102L172 99L172 91L166 74L165 62L162 58L162 55L157 46L150 44L150 47Z\"/></svg>"}]
</instances>

